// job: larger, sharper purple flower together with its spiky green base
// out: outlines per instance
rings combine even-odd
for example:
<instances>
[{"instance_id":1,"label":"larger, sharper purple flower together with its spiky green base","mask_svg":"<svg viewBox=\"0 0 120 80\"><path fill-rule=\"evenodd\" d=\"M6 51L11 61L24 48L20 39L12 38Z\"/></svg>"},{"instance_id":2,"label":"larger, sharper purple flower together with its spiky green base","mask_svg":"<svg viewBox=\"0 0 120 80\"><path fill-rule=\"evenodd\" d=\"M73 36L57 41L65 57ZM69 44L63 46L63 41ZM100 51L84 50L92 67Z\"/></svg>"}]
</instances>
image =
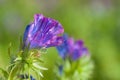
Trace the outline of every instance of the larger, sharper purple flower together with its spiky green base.
<instances>
[{"instance_id":1,"label":"larger, sharper purple flower together with its spiky green base","mask_svg":"<svg viewBox=\"0 0 120 80\"><path fill-rule=\"evenodd\" d=\"M60 36L64 32L62 25L52 19L43 16L42 14L35 14L34 21L27 25L23 39L20 39L20 49L15 55L11 57L11 63L7 71L1 69L2 72L7 74L5 77L8 80L21 80L29 79L35 80L32 74L43 77L41 70L48 70L41 66L43 61L40 59L42 53L46 48L56 47L61 45L63 38ZM9 49L9 55L10 49ZM17 77L17 75L21 77Z\"/></svg>"}]
</instances>

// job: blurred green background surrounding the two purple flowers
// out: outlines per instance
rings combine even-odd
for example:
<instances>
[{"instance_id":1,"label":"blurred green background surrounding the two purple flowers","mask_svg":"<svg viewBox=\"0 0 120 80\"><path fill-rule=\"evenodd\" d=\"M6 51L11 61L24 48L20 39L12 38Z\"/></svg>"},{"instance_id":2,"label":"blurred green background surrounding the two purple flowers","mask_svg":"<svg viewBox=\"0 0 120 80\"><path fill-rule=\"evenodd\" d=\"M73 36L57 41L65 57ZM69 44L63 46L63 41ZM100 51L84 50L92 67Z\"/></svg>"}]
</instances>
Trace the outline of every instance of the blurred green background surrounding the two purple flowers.
<instances>
[{"instance_id":1,"label":"blurred green background surrounding the two purple flowers","mask_svg":"<svg viewBox=\"0 0 120 80\"><path fill-rule=\"evenodd\" d=\"M68 35L82 39L95 64L92 80L120 80L120 0L0 0L0 67L8 65L12 53L33 15L42 13L58 20ZM52 69L58 53L47 51L43 80L53 80Z\"/></svg>"}]
</instances>

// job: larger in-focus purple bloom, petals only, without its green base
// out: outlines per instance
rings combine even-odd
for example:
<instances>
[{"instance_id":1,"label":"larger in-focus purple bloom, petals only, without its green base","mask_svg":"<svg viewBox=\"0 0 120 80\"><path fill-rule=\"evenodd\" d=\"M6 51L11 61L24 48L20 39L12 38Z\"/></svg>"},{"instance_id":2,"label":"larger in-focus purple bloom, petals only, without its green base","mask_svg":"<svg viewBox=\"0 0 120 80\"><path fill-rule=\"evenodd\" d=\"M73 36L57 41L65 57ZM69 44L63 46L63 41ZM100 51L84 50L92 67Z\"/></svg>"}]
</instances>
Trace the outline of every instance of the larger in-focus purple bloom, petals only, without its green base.
<instances>
[{"instance_id":1,"label":"larger in-focus purple bloom, petals only, without its green base","mask_svg":"<svg viewBox=\"0 0 120 80\"><path fill-rule=\"evenodd\" d=\"M52 19L35 14L34 21L26 27L23 42L24 47L41 48L58 46L62 43L62 37L58 36L64 32L62 25Z\"/></svg>"}]
</instances>

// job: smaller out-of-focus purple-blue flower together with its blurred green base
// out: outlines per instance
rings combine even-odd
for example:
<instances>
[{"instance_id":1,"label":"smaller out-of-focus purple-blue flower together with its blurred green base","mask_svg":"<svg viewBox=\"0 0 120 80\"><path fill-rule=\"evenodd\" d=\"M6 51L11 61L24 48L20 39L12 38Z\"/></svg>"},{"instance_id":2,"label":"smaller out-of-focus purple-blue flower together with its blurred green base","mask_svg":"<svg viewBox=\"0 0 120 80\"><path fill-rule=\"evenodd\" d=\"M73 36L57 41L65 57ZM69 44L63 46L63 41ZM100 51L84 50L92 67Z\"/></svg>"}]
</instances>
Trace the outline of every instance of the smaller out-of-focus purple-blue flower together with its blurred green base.
<instances>
[{"instance_id":1,"label":"smaller out-of-focus purple-blue flower together with its blurred green base","mask_svg":"<svg viewBox=\"0 0 120 80\"><path fill-rule=\"evenodd\" d=\"M63 35L63 43L57 46L63 63L58 65L57 80L87 80L93 71L93 62L90 60L88 49L82 40Z\"/></svg>"}]
</instances>

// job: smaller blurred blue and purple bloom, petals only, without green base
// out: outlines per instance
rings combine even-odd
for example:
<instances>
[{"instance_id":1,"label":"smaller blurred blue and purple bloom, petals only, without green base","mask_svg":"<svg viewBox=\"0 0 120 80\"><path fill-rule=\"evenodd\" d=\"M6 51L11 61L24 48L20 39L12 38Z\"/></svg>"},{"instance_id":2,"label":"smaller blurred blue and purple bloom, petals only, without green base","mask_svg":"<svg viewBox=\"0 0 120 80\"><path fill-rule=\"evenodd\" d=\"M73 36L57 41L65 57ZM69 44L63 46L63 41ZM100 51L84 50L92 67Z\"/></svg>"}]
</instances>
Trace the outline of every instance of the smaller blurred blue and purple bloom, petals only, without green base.
<instances>
[{"instance_id":1,"label":"smaller blurred blue and purple bloom, petals only, without green base","mask_svg":"<svg viewBox=\"0 0 120 80\"><path fill-rule=\"evenodd\" d=\"M74 41L73 38L69 38L66 34L63 35L63 39L64 42L57 46L59 55L63 59L69 57L72 60L77 60L81 56L88 54L88 50L82 40Z\"/></svg>"}]
</instances>

